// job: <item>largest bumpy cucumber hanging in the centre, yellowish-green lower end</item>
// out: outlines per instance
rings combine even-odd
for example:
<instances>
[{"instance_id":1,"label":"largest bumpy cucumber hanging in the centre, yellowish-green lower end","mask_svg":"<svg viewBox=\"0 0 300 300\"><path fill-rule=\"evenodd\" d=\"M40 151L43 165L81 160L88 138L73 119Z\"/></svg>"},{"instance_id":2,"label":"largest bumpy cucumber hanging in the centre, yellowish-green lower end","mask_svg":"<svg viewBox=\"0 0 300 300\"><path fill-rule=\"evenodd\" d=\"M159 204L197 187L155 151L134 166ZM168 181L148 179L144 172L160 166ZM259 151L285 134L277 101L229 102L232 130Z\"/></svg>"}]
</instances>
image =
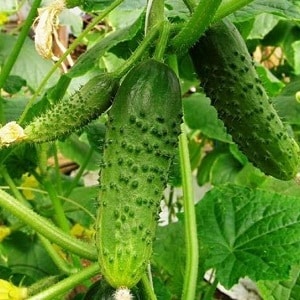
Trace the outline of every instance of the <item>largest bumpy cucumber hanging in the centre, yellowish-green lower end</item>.
<instances>
[{"instance_id":1,"label":"largest bumpy cucumber hanging in the centre, yellowish-green lower end","mask_svg":"<svg viewBox=\"0 0 300 300\"><path fill-rule=\"evenodd\" d=\"M147 60L125 77L109 111L96 244L101 272L131 288L145 272L181 123L178 79Z\"/></svg>"}]
</instances>

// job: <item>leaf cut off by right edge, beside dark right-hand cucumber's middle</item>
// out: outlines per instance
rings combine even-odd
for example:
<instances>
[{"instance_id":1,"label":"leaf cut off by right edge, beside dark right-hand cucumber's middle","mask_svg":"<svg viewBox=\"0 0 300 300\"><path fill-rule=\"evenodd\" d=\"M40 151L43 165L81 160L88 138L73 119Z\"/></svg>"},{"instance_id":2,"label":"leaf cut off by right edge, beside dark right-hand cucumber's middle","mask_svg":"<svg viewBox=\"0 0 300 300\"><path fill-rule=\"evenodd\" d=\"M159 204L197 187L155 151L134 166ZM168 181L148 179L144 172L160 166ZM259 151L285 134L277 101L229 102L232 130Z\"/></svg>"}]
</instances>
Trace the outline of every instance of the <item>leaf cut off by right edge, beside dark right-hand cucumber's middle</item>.
<instances>
[{"instance_id":1,"label":"leaf cut off by right edge, beside dark right-hand cucumber's middle","mask_svg":"<svg viewBox=\"0 0 300 300\"><path fill-rule=\"evenodd\" d=\"M293 125L300 125L300 103L296 100L298 91L300 91L300 79L289 83L277 97L273 98L273 104L280 117Z\"/></svg>"}]
</instances>

